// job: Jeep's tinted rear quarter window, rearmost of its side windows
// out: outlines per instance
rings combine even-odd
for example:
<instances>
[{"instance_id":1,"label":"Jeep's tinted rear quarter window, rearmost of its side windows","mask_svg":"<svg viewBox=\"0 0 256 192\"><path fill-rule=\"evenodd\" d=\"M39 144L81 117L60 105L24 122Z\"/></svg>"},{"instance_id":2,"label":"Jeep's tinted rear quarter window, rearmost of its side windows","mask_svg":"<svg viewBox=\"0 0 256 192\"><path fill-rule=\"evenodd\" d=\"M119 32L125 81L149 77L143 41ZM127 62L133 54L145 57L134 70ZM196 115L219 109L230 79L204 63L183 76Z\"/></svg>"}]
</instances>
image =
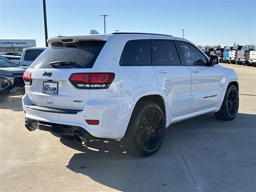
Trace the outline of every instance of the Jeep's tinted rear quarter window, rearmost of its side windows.
<instances>
[{"instance_id":1,"label":"Jeep's tinted rear quarter window, rearmost of its side windows","mask_svg":"<svg viewBox=\"0 0 256 192\"><path fill-rule=\"evenodd\" d=\"M149 40L131 40L124 47L120 60L121 66L151 65Z\"/></svg>"}]
</instances>

